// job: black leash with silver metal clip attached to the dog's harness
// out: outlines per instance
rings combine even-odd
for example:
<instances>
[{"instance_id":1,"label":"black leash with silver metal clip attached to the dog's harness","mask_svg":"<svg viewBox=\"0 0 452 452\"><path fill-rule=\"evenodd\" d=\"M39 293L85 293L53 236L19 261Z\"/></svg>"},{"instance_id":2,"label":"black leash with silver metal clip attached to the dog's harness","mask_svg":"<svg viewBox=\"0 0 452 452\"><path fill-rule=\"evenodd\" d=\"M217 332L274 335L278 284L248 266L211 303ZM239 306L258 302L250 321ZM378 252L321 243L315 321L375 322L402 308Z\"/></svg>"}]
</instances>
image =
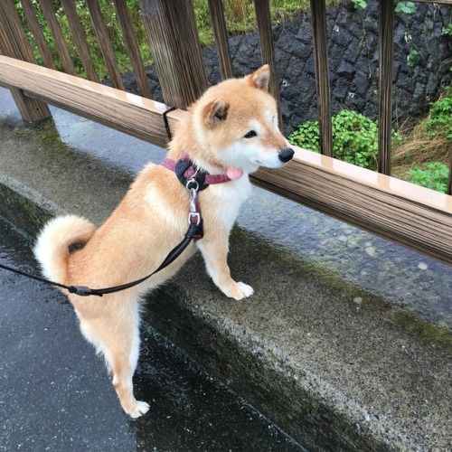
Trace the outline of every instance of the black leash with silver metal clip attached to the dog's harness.
<instances>
[{"instance_id":1,"label":"black leash with silver metal clip attached to the dog's harness","mask_svg":"<svg viewBox=\"0 0 452 452\"><path fill-rule=\"evenodd\" d=\"M80 297L89 297L91 295L95 295L98 297L103 297L104 295L113 294L115 292L119 292L121 290L126 290L130 287L135 287L138 284L146 281L146 279L151 278L155 273L158 273L160 270L168 267L175 259L177 259L184 250L190 245L190 242L193 240L195 236L202 237L202 218L201 212L199 212L199 205L197 202L197 190L199 188L198 183L193 178L191 179L187 185L187 189L190 192L190 213L188 215L189 227L185 232L184 240L182 240L173 250L171 250L166 256L165 260L160 264L160 266L155 269L152 273L147 275L144 278L137 279L136 281L129 282L127 284L122 284L121 286L115 287L105 287L105 288L89 288L86 286L66 286L65 284L57 283L55 281L51 281L49 279L36 277L34 275L30 275L21 271L17 268L8 267L6 265L0 264L0 268L4 268L5 270L12 271L17 275L24 276L26 278L35 279L36 281L40 281L45 284L49 284L51 286L65 288L71 294L80 295Z\"/></svg>"}]
</instances>

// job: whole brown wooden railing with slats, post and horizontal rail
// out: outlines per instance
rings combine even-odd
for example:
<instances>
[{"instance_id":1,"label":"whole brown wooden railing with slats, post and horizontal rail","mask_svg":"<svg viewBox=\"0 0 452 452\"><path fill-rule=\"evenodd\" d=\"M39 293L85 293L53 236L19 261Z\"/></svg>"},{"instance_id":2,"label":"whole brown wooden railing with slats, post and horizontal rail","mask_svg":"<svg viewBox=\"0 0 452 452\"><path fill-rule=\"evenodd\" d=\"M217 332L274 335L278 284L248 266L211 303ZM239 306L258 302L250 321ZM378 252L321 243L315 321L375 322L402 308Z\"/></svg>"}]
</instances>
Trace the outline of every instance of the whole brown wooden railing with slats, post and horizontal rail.
<instances>
[{"instance_id":1,"label":"whole brown wooden railing with slats, post and horizontal rail","mask_svg":"<svg viewBox=\"0 0 452 452\"><path fill-rule=\"evenodd\" d=\"M65 73L55 71L32 0L21 0L24 16L42 56L35 64L14 0L0 2L0 84L7 86L26 120L50 115L46 103L71 110L110 127L165 146L162 113L167 108L151 100L151 92L125 0L114 0L118 23L135 71L142 97L124 91L116 57L97 0L85 0L101 52L115 88L98 83L89 46L72 0L61 0L86 79L75 76L74 64L55 18L51 0L39 0ZM278 99L278 78L272 42L268 0L255 0L262 62L272 68L271 92ZM452 5L452 0L441 2ZM233 76L228 35L221 0L209 0L222 78ZM197 99L208 82L190 0L140 0L155 67L165 104L176 107L168 114L170 127L184 118L184 108ZM435 193L389 176L391 172L391 67L393 0L381 0L379 169L381 174L332 158L333 141L329 105L329 71L325 1L311 0L318 112L323 155L297 149L294 162L278 172L260 170L252 180L275 193L303 202L363 229L396 240L412 249L452 263L452 197ZM452 190L452 155L449 193Z\"/></svg>"}]
</instances>

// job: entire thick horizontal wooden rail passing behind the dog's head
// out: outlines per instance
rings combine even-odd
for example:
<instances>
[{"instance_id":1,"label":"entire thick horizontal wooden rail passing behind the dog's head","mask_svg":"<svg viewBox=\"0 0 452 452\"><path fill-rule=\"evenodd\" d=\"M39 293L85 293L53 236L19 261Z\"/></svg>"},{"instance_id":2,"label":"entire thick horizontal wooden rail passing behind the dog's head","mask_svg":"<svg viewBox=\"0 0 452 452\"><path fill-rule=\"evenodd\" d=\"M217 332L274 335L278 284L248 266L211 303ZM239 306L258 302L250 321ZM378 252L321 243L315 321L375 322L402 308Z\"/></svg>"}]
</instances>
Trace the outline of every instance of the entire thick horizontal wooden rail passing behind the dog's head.
<instances>
[{"instance_id":1,"label":"entire thick horizontal wooden rail passing behind the dog's head","mask_svg":"<svg viewBox=\"0 0 452 452\"><path fill-rule=\"evenodd\" d=\"M154 100L3 55L0 84L157 146L167 142L165 105ZM186 115L171 112L170 127ZM452 264L452 196L300 148L293 162L278 171L260 170L252 181Z\"/></svg>"}]
</instances>

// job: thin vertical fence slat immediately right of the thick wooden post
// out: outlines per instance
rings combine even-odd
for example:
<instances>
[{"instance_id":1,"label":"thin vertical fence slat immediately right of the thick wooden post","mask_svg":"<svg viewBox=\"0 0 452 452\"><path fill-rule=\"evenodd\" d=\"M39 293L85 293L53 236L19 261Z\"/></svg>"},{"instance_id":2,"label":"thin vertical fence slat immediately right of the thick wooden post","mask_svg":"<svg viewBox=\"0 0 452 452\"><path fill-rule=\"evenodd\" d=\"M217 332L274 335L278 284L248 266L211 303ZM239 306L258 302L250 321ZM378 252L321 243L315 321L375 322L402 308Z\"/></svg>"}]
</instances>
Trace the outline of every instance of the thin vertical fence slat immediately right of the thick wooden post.
<instances>
[{"instance_id":1,"label":"thin vertical fence slat immediately right of the thick wooden post","mask_svg":"<svg viewBox=\"0 0 452 452\"><path fill-rule=\"evenodd\" d=\"M211 12L213 33L218 49L221 79L231 79L234 74L232 71L231 51L229 48L228 31L226 29L222 1L209 0L209 11Z\"/></svg>"}]
</instances>

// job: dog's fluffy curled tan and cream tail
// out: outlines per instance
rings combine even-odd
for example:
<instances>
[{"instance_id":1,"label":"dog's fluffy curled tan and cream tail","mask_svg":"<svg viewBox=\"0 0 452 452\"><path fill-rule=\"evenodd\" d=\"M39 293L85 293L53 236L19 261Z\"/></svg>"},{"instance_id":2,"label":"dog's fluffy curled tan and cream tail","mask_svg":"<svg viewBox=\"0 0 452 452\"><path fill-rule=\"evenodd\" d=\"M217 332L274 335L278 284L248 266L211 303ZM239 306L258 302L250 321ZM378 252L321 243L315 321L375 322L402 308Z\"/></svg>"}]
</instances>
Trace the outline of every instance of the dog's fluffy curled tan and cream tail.
<instances>
[{"instance_id":1,"label":"dog's fluffy curled tan and cream tail","mask_svg":"<svg viewBox=\"0 0 452 452\"><path fill-rule=\"evenodd\" d=\"M66 215L49 221L34 245L34 257L42 274L52 281L66 284L70 247L85 244L96 231L96 226L75 215Z\"/></svg>"}]
</instances>

